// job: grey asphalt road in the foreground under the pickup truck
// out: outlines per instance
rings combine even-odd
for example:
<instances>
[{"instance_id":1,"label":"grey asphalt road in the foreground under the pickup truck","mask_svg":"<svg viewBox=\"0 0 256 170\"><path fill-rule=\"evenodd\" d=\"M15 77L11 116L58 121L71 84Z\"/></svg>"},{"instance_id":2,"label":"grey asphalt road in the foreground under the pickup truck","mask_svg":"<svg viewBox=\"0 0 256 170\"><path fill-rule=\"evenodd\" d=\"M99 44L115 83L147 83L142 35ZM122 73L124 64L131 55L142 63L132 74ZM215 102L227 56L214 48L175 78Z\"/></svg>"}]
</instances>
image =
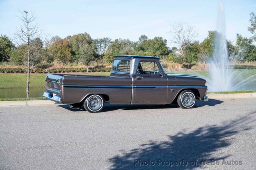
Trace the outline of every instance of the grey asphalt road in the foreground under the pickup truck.
<instances>
[{"instance_id":1,"label":"grey asphalt road in the foreground under the pickup truck","mask_svg":"<svg viewBox=\"0 0 256 170\"><path fill-rule=\"evenodd\" d=\"M0 107L0 169L255 169L255 120L256 98Z\"/></svg>"}]
</instances>

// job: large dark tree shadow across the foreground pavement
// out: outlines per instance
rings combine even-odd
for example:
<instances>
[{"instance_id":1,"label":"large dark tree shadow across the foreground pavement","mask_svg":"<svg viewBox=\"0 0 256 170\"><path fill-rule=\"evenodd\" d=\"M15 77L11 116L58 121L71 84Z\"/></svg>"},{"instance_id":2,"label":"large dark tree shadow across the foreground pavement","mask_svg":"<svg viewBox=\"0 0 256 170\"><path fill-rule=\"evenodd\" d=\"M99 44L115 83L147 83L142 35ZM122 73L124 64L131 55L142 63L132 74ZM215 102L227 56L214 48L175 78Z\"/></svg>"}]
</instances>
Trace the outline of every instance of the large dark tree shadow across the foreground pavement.
<instances>
[{"instance_id":1,"label":"large dark tree shadow across the foreground pavement","mask_svg":"<svg viewBox=\"0 0 256 170\"><path fill-rule=\"evenodd\" d=\"M234 135L254 128L252 123L255 121L255 115L256 112L223 122L219 126L199 127L193 131L182 130L175 135L169 135L169 139L166 141L149 141L129 151L121 150L119 155L108 161L111 163L111 169L124 170L204 168L201 160L218 161L220 165L215 165L215 168L224 169L226 166L221 165L223 159L226 161L232 159L229 158L231 154L225 153L222 149L230 146L232 141L236 140ZM218 154L214 154L216 152ZM195 160L198 160L198 163ZM149 165L150 161L151 166ZM174 161L179 163L175 165Z\"/></svg>"}]
</instances>

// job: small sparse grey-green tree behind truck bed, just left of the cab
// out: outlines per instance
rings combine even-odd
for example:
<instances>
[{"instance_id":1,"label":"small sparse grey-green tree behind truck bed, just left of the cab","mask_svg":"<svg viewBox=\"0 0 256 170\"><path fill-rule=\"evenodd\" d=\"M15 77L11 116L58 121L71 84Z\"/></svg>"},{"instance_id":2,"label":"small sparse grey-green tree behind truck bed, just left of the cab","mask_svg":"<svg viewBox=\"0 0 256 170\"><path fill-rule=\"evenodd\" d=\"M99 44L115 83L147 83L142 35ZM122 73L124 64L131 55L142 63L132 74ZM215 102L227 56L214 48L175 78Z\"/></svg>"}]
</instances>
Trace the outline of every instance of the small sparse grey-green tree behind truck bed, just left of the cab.
<instances>
[{"instance_id":1,"label":"small sparse grey-green tree behind truck bed, just left of the cab","mask_svg":"<svg viewBox=\"0 0 256 170\"><path fill-rule=\"evenodd\" d=\"M95 51L96 53L100 56L100 60L103 59L109 44L111 43L111 39L106 37L106 38L97 38L93 40L95 44Z\"/></svg>"}]
</instances>

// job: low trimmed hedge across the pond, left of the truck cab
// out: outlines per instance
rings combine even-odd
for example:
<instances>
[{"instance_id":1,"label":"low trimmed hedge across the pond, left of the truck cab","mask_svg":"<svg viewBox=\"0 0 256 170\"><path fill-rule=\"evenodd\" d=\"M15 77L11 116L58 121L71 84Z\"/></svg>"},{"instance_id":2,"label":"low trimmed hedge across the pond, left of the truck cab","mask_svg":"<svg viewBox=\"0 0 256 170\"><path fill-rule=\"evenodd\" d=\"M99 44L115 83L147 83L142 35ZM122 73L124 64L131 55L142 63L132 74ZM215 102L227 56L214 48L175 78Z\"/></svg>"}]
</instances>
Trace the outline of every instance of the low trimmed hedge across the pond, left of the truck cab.
<instances>
[{"instance_id":1,"label":"low trimmed hedge across the pond, left of the truck cab","mask_svg":"<svg viewBox=\"0 0 256 170\"><path fill-rule=\"evenodd\" d=\"M30 69L30 73L76 73L86 72L86 68L53 68L53 69ZM88 68L88 72L110 72L111 68L98 67ZM0 73L26 73L26 69L21 68L0 68Z\"/></svg>"}]
</instances>

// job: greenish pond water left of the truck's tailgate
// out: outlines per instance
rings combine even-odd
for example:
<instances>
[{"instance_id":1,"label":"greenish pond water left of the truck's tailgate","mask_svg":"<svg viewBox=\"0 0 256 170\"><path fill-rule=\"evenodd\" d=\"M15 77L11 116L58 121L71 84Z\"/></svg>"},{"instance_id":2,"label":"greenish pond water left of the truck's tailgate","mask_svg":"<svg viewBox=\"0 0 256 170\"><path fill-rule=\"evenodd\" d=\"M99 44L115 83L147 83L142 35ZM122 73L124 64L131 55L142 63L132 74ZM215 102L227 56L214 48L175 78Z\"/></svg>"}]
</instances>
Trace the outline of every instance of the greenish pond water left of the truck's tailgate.
<instances>
[{"instance_id":1,"label":"greenish pond water left of the truck's tailgate","mask_svg":"<svg viewBox=\"0 0 256 170\"><path fill-rule=\"evenodd\" d=\"M45 87L30 88L30 97L42 97ZM26 97L26 88L0 89L0 99L6 98L24 98Z\"/></svg>"}]
</instances>

